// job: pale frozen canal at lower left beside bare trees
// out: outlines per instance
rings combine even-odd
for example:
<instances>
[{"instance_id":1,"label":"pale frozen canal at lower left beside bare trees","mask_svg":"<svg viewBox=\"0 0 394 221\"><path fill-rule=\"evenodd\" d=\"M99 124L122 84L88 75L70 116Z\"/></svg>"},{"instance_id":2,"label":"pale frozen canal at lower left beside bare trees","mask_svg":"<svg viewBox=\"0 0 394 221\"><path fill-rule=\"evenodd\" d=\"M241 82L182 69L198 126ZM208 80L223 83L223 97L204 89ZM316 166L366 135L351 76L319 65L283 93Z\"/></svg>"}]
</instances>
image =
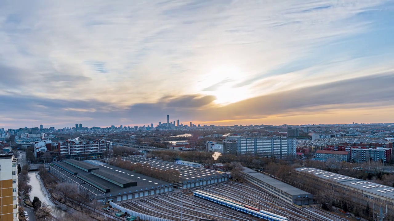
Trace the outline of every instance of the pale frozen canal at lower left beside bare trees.
<instances>
[{"instance_id":1,"label":"pale frozen canal at lower left beside bare trees","mask_svg":"<svg viewBox=\"0 0 394 221\"><path fill-rule=\"evenodd\" d=\"M52 201L49 200L49 193L46 191L44 184L38 176L37 171L31 171L28 173L30 177L30 185L32 185L32 192L30 192L30 200L33 201L34 197L38 197L41 202L45 202L46 205L51 209L51 214L56 218L61 218L65 215L65 211L56 207Z\"/></svg>"}]
</instances>

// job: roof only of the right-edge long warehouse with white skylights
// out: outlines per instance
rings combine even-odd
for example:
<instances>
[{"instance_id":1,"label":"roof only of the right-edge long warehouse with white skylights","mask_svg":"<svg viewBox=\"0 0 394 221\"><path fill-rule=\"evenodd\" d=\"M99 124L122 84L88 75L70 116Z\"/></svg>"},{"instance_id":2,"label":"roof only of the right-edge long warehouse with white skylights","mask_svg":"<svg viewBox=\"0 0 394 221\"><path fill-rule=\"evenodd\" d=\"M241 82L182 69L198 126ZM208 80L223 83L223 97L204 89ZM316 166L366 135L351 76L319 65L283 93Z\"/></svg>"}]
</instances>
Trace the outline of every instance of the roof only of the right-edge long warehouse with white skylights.
<instances>
[{"instance_id":1,"label":"roof only of the right-edge long warehouse with white skylights","mask_svg":"<svg viewBox=\"0 0 394 221\"><path fill-rule=\"evenodd\" d=\"M354 177L340 175L338 173L332 173L321 169L303 167L303 168L296 168L295 170L299 172L307 173L309 175L313 175L315 177L319 177L321 179L337 182L364 192L370 192L370 193L374 193L375 195L381 195L382 197L388 197L394 199L394 188L390 186L385 186L374 182L369 182L366 180L356 179Z\"/></svg>"}]
</instances>

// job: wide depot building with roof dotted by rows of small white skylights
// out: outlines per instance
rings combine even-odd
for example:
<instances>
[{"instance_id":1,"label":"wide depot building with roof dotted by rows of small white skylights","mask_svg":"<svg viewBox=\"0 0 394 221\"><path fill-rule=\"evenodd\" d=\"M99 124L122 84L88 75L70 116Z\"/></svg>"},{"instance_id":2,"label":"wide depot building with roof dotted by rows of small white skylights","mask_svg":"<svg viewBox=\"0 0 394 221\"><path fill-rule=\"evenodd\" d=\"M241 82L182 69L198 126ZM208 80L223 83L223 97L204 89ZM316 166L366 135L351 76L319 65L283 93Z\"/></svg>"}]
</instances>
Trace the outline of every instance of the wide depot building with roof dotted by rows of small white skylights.
<instances>
[{"instance_id":1,"label":"wide depot building with roof dotted by rows of small white skylights","mask_svg":"<svg viewBox=\"0 0 394 221\"><path fill-rule=\"evenodd\" d=\"M132 164L140 164L141 166L144 166L144 164L149 164L149 166L163 171L169 169L178 171L179 182L183 183L183 188L203 186L206 184L229 180L229 174L221 171L214 171L205 168L195 168L162 160L154 160L151 158L138 156L122 157L120 158L120 160L127 160L130 161Z\"/></svg>"}]
</instances>

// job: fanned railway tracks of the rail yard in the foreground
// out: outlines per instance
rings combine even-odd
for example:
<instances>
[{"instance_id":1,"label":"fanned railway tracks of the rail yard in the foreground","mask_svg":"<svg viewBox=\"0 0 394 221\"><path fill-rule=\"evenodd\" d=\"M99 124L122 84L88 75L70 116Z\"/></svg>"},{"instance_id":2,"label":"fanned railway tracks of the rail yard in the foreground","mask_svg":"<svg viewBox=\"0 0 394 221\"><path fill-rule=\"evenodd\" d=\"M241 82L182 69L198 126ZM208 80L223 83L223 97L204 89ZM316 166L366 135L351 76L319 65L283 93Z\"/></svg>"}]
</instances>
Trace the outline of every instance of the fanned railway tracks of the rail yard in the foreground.
<instances>
[{"instance_id":1,"label":"fanned railway tracks of the rail yard in the foreground","mask_svg":"<svg viewBox=\"0 0 394 221\"><path fill-rule=\"evenodd\" d=\"M264 220L252 217L241 211L226 207L217 202L211 202L193 195L193 192L201 192L209 196L223 199L232 205L252 208L255 211L266 211L279 217L268 220L288 221L345 221L342 217L330 214L319 208L297 208L285 201L272 196L268 192L248 183L220 182L188 188L182 193L182 220L198 221L199 219L229 220L229 221L254 221ZM166 192L158 195L128 199L117 202L120 206L149 214L155 217L180 220L180 192ZM235 206L237 206L235 205ZM250 210L249 210L250 211ZM261 211L261 212L262 212ZM252 211L253 212L253 211Z\"/></svg>"}]
</instances>

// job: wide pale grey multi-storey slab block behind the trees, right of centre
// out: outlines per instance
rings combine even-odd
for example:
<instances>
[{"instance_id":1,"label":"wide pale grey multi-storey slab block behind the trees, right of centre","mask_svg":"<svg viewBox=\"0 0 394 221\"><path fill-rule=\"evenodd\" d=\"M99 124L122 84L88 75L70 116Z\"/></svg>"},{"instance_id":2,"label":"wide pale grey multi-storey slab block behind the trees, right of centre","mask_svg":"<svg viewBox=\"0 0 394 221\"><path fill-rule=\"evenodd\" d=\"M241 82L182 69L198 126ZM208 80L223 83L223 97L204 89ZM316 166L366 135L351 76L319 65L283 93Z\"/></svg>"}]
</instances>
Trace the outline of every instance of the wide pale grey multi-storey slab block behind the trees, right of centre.
<instances>
[{"instance_id":1,"label":"wide pale grey multi-storey slab block behind the trees, right of centre","mask_svg":"<svg viewBox=\"0 0 394 221\"><path fill-rule=\"evenodd\" d=\"M231 136L226 137L227 139ZM237 141L237 152L241 155L255 155L259 157L276 157L285 159L296 156L296 138L287 137L242 137L234 136Z\"/></svg>"}]
</instances>

